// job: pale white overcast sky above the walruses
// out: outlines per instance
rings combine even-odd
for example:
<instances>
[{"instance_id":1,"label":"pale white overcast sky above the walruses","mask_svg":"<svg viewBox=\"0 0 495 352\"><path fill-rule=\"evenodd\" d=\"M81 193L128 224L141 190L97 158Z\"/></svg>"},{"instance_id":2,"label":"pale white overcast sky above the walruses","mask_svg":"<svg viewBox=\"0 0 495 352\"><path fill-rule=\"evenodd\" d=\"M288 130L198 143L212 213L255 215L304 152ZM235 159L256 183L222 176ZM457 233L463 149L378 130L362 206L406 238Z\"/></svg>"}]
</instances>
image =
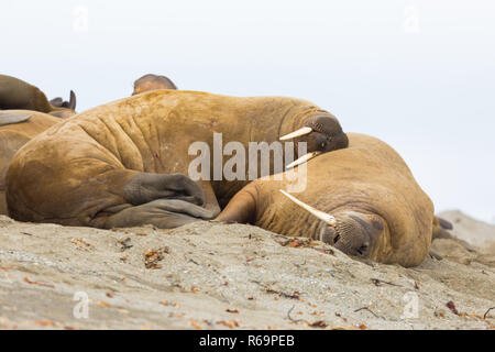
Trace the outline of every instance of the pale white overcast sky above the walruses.
<instances>
[{"instance_id":1,"label":"pale white overcast sky above the walruses","mask_svg":"<svg viewBox=\"0 0 495 352\"><path fill-rule=\"evenodd\" d=\"M437 210L495 223L495 2L1 0L0 73L78 111L146 73L292 96L392 144Z\"/></svg>"}]
</instances>

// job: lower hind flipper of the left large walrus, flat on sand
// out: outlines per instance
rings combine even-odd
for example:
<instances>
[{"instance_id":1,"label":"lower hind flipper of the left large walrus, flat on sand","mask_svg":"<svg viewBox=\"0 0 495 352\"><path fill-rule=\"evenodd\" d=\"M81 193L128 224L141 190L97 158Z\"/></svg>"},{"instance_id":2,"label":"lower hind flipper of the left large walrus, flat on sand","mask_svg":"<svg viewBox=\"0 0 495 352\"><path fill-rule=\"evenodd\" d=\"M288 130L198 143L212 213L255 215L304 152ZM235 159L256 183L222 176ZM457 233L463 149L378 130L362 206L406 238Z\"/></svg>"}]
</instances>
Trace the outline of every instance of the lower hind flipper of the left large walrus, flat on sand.
<instances>
[{"instance_id":1,"label":"lower hind flipper of the left large walrus, flat on sand","mask_svg":"<svg viewBox=\"0 0 495 352\"><path fill-rule=\"evenodd\" d=\"M160 229L174 229L198 220L210 220L215 212L179 199L158 199L130 207L108 217L105 228L129 228L153 224Z\"/></svg>"}]
</instances>

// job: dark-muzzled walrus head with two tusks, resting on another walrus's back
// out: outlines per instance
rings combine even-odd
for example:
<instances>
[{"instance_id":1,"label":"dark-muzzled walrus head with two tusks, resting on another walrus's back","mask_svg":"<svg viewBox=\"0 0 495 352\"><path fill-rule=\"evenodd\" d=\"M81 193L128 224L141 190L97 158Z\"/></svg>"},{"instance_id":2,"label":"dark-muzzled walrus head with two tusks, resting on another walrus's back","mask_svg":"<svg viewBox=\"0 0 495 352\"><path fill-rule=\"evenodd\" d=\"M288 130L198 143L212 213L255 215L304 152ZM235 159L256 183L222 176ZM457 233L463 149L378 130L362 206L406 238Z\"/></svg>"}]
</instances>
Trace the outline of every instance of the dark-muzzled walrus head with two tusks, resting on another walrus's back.
<instances>
[{"instance_id":1,"label":"dark-muzzled walrus head with two tusks, resting on another walrus's back","mask_svg":"<svg viewBox=\"0 0 495 352\"><path fill-rule=\"evenodd\" d=\"M344 148L349 145L349 139L342 131L339 120L328 112L308 118L300 129L280 136L279 140L307 143L308 153L298 155L296 161L286 166L287 168L302 164L321 153Z\"/></svg>"}]
</instances>

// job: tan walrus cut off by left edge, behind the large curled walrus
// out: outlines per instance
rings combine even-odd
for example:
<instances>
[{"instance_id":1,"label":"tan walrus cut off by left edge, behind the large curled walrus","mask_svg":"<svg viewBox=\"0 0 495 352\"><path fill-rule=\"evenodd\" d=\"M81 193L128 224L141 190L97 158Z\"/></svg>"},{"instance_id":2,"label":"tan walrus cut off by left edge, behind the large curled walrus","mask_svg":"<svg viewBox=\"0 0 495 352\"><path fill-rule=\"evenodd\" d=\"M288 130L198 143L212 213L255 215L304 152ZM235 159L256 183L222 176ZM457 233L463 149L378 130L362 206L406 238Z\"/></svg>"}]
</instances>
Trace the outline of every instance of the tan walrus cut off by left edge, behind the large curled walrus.
<instances>
[{"instance_id":1,"label":"tan walrus cut off by left edge, behind the large curled walrus","mask_svg":"<svg viewBox=\"0 0 495 352\"><path fill-rule=\"evenodd\" d=\"M21 146L46 129L61 122L61 120L43 112L28 110L0 111L0 120L3 112L10 116L19 116L22 119L29 118L24 122L0 125L0 215L8 215L6 174L10 161Z\"/></svg>"}]
</instances>

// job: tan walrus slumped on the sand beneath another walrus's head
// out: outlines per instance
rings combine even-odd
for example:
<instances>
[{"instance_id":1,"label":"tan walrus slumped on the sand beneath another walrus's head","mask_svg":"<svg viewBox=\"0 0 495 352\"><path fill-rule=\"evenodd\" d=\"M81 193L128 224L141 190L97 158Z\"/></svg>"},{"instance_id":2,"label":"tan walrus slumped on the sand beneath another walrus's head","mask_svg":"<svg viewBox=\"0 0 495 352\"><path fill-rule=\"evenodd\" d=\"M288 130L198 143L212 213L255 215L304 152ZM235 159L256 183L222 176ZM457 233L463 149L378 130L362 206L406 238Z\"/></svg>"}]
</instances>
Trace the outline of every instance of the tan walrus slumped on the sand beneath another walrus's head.
<instances>
[{"instance_id":1,"label":"tan walrus slumped on the sand beneath another walrus's head","mask_svg":"<svg viewBox=\"0 0 495 352\"><path fill-rule=\"evenodd\" d=\"M334 227L278 191L286 185L273 176L244 187L217 220L322 240L346 254L381 263L419 265L437 222L430 198L389 145L364 134L348 136L348 148L307 163L307 188L292 195L334 217Z\"/></svg>"}]
</instances>

